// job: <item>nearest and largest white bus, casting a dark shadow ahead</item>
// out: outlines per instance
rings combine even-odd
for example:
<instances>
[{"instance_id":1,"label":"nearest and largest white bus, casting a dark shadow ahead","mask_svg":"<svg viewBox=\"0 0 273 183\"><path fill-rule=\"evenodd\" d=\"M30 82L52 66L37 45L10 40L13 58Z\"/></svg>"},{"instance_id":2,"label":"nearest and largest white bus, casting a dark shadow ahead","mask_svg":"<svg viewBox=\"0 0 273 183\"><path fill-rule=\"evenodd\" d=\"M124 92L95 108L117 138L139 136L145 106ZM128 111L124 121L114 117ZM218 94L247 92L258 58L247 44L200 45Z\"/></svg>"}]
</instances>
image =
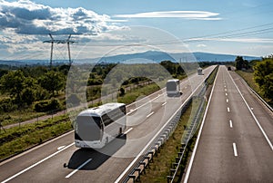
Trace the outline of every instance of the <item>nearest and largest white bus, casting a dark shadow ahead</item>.
<instances>
[{"instance_id":1,"label":"nearest and largest white bus, casting a dark shadow ahead","mask_svg":"<svg viewBox=\"0 0 273 183\"><path fill-rule=\"evenodd\" d=\"M125 129L126 105L106 103L78 114L75 122L75 145L77 148L101 149Z\"/></svg>"}]
</instances>

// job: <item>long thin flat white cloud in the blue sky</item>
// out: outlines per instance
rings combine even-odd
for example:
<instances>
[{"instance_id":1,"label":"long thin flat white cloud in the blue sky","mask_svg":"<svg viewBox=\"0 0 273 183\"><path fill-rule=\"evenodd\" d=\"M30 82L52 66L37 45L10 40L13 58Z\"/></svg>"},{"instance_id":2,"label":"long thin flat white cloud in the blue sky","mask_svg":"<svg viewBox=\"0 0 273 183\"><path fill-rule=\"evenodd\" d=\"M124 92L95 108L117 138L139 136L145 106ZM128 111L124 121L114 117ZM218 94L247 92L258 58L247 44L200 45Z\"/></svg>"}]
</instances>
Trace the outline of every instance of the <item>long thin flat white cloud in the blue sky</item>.
<instances>
[{"instance_id":1,"label":"long thin flat white cloud in the blue sky","mask_svg":"<svg viewBox=\"0 0 273 183\"><path fill-rule=\"evenodd\" d=\"M197 20L221 20L217 13L205 11L165 11L165 12L146 12L139 14L115 14L118 18L185 18Z\"/></svg>"}]
</instances>

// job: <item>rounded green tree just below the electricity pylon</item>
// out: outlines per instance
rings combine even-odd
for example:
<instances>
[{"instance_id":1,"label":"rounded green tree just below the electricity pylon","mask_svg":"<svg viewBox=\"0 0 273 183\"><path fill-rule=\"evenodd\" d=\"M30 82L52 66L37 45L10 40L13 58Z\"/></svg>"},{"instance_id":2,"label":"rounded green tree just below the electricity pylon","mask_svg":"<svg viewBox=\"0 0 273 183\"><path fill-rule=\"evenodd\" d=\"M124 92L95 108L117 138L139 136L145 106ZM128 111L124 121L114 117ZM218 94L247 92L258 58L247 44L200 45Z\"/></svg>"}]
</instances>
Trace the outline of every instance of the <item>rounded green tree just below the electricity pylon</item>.
<instances>
[{"instance_id":1,"label":"rounded green tree just below the electricity pylon","mask_svg":"<svg viewBox=\"0 0 273 183\"><path fill-rule=\"evenodd\" d=\"M65 86L65 76L62 72L49 71L39 78L38 82L48 92L55 96Z\"/></svg>"}]
</instances>

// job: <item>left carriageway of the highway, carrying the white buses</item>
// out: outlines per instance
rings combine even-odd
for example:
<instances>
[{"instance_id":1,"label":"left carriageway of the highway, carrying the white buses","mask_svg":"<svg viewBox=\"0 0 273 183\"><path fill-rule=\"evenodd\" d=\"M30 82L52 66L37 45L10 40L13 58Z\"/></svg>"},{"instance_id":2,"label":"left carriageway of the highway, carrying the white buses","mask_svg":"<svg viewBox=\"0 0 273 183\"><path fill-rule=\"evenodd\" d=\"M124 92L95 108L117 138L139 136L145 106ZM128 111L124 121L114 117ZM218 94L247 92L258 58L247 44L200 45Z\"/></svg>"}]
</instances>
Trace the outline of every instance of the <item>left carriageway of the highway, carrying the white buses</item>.
<instances>
[{"instance_id":1,"label":"left carriageway of the highway, carrying the white buses","mask_svg":"<svg viewBox=\"0 0 273 183\"><path fill-rule=\"evenodd\" d=\"M126 135L110 142L106 148L77 149L74 131L70 131L0 163L0 181L119 182L192 90L214 68L211 66L204 70L204 75L194 73L184 80L181 97L168 98L161 90L126 106Z\"/></svg>"}]
</instances>

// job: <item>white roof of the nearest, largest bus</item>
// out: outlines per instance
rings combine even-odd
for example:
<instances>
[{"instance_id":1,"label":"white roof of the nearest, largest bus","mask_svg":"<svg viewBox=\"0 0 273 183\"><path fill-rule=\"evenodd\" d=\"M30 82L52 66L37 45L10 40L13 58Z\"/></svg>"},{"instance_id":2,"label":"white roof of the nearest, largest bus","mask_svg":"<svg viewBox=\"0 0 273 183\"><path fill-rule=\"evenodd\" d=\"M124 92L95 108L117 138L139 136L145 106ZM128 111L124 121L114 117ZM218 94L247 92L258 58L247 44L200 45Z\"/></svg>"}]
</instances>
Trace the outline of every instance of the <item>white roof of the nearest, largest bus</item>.
<instances>
[{"instance_id":1,"label":"white roof of the nearest, largest bus","mask_svg":"<svg viewBox=\"0 0 273 183\"><path fill-rule=\"evenodd\" d=\"M117 103L117 102L106 103L91 109L87 109L85 111L81 111L78 115L79 116L102 116L108 111L116 110L117 108L124 105L125 105L124 103Z\"/></svg>"}]
</instances>

